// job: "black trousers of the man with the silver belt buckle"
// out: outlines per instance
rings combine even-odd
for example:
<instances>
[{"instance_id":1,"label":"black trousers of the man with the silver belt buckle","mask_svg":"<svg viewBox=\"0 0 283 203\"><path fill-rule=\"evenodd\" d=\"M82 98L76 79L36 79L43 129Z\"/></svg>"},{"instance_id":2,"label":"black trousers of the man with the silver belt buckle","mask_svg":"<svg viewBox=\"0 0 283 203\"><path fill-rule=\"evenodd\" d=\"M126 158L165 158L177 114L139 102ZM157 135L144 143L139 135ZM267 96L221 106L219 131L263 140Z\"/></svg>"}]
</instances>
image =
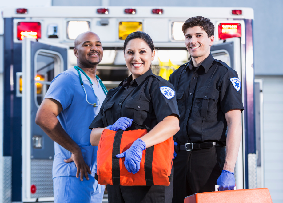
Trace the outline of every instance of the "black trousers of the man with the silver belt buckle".
<instances>
[{"instance_id":1,"label":"black trousers of the man with the silver belt buckle","mask_svg":"<svg viewBox=\"0 0 283 203\"><path fill-rule=\"evenodd\" d=\"M174 190L172 202L202 192L214 191L225 162L225 147L212 147L193 151L176 151L174 165Z\"/></svg>"}]
</instances>

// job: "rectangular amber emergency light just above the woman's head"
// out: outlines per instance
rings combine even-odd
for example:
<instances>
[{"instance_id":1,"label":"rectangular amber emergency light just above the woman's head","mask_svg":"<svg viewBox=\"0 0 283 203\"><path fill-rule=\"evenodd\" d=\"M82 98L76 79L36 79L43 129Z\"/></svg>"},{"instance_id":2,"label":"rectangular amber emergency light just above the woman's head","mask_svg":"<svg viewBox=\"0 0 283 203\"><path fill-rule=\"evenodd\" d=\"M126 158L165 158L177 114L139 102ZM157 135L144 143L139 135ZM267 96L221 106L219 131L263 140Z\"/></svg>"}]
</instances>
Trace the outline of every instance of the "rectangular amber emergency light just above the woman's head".
<instances>
[{"instance_id":1,"label":"rectangular amber emergency light just above the woman's head","mask_svg":"<svg viewBox=\"0 0 283 203\"><path fill-rule=\"evenodd\" d=\"M126 39L132 32L142 31L141 22L119 22L119 39Z\"/></svg>"}]
</instances>

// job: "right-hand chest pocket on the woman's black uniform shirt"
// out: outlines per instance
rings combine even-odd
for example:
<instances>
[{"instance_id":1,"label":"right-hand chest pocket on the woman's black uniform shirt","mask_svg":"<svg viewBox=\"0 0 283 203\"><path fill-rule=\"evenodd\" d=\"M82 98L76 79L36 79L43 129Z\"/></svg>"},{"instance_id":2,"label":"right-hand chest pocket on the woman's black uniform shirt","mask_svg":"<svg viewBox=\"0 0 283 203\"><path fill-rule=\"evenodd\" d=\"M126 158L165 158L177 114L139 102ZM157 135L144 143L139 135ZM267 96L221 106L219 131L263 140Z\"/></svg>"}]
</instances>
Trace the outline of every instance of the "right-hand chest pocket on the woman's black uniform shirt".
<instances>
[{"instance_id":1,"label":"right-hand chest pocket on the woman's black uniform shirt","mask_svg":"<svg viewBox=\"0 0 283 203\"><path fill-rule=\"evenodd\" d=\"M133 119L138 124L143 124L145 120L150 119L152 106L149 101L128 100L125 105L126 117Z\"/></svg>"}]
</instances>

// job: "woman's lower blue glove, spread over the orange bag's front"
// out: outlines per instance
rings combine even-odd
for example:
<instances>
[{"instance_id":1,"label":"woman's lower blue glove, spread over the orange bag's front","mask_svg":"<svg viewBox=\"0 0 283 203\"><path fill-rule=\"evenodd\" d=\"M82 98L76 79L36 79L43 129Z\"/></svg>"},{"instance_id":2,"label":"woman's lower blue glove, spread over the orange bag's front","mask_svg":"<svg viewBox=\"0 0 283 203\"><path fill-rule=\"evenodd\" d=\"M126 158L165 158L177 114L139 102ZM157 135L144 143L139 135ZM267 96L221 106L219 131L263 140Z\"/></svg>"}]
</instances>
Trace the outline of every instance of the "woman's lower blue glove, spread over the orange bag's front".
<instances>
[{"instance_id":1,"label":"woman's lower blue glove, spread over the orange bag's front","mask_svg":"<svg viewBox=\"0 0 283 203\"><path fill-rule=\"evenodd\" d=\"M140 170L142 151L145 150L145 143L141 139L134 141L132 146L121 154L117 154L117 158L125 157L125 167L131 173L135 174Z\"/></svg>"}]
</instances>

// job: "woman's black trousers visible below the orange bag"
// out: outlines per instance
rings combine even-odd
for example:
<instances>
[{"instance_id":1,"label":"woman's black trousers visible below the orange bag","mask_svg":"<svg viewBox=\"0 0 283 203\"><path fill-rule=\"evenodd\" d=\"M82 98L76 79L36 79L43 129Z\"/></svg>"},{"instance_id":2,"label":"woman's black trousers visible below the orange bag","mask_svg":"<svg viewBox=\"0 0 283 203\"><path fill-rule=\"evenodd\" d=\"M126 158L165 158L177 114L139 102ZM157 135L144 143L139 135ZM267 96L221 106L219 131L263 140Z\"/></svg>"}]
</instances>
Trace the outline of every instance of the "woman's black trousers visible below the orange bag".
<instances>
[{"instance_id":1,"label":"woman's black trousers visible below the orange bag","mask_svg":"<svg viewBox=\"0 0 283 203\"><path fill-rule=\"evenodd\" d=\"M172 168L171 174L174 169ZM107 185L108 202L171 202L173 180L169 186ZM183 200L184 202L184 200Z\"/></svg>"}]
</instances>

